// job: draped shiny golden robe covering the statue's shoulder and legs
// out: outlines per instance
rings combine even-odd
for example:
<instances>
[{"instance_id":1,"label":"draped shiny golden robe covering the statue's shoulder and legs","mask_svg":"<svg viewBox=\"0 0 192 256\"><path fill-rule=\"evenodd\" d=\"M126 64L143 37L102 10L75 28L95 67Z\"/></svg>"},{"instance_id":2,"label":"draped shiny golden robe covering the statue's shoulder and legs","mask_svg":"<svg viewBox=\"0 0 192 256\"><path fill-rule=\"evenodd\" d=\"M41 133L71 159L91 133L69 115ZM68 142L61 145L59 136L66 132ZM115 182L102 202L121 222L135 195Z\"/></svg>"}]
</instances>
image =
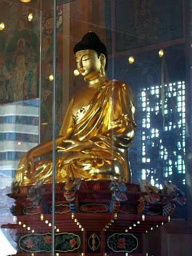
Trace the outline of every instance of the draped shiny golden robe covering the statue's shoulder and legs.
<instances>
[{"instance_id":1,"label":"draped shiny golden robe covering the statue's shoulder and legs","mask_svg":"<svg viewBox=\"0 0 192 256\"><path fill-rule=\"evenodd\" d=\"M122 81L109 80L99 87L89 105L73 116L74 139L93 141L95 147L55 159L55 181L65 182L69 176L83 180L110 180L121 175L131 181L128 148L134 138L135 108L131 88ZM25 182L29 185L27 173ZM52 182L52 159L35 162L34 178Z\"/></svg>"}]
</instances>

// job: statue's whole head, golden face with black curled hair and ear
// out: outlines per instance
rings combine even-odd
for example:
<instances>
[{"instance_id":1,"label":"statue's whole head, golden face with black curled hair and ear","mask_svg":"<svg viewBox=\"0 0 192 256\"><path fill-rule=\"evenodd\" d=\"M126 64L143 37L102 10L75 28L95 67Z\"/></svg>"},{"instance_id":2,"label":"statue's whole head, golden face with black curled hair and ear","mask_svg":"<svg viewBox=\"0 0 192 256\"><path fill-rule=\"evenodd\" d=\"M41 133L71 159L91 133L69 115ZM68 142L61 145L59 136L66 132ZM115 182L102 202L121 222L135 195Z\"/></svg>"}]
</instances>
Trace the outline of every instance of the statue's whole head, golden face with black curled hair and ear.
<instances>
[{"instance_id":1,"label":"statue's whole head, golden face with black curled hair and ear","mask_svg":"<svg viewBox=\"0 0 192 256\"><path fill-rule=\"evenodd\" d=\"M81 75L89 79L105 76L107 69L107 49L99 37L89 32L74 47L77 69Z\"/></svg>"}]
</instances>

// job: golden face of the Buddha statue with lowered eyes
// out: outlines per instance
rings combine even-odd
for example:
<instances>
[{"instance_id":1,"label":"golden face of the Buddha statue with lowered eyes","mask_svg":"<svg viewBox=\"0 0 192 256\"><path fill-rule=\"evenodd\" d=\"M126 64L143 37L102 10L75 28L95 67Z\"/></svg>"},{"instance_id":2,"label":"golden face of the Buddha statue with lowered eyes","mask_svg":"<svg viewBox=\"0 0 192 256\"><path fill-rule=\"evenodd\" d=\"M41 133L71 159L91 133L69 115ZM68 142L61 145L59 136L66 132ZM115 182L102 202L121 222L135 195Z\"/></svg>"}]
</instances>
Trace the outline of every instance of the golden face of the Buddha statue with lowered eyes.
<instances>
[{"instance_id":1,"label":"golden face of the Buddha statue with lowered eyes","mask_svg":"<svg viewBox=\"0 0 192 256\"><path fill-rule=\"evenodd\" d=\"M89 81L96 79L99 76L101 62L97 52L94 50L83 50L75 53L77 69L81 75Z\"/></svg>"}]
</instances>

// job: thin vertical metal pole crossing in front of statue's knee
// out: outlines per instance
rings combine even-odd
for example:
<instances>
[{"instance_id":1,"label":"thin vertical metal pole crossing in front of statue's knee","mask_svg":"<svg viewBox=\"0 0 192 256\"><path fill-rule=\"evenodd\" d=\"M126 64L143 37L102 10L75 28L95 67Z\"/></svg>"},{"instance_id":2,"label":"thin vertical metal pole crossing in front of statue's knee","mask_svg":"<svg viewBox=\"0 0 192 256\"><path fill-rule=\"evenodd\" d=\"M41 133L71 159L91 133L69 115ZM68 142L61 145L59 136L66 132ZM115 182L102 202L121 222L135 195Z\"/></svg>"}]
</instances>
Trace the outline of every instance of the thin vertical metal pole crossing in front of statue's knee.
<instances>
[{"instance_id":1,"label":"thin vertical metal pole crossing in front of statue's knee","mask_svg":"<svg viewBox=\"0 0 192 256\"><path fill-rule=\"evenodd\" d=\"M55 124L56 124L56 13L57 0L53 0L53 166L52 166L52 251L55 252Z\"/></svg>"}]
</instances>

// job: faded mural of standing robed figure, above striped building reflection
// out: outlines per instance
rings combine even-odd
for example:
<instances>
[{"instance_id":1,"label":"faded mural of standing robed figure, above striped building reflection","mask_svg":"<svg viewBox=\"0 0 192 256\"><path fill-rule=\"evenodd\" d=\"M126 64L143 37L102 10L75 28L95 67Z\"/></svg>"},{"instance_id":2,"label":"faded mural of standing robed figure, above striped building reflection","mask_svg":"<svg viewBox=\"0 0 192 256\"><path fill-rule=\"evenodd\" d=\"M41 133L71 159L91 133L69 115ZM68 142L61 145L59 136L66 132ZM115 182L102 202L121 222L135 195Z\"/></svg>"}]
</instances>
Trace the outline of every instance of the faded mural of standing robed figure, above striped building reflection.
<instances>
[{"instance_id":1,"label":"faded mural of standing robed figure, above striped building reflection","mask_svg":"<svg viewBox=\"0 0 192 256\"><path fill-rule=\"evenodd\" d=\"M0 31L0 104L38 98L39 14L26 6L0 3L5 21ZM29 21L31 12L34 18Z\"/></svg>"}]
</instances>

